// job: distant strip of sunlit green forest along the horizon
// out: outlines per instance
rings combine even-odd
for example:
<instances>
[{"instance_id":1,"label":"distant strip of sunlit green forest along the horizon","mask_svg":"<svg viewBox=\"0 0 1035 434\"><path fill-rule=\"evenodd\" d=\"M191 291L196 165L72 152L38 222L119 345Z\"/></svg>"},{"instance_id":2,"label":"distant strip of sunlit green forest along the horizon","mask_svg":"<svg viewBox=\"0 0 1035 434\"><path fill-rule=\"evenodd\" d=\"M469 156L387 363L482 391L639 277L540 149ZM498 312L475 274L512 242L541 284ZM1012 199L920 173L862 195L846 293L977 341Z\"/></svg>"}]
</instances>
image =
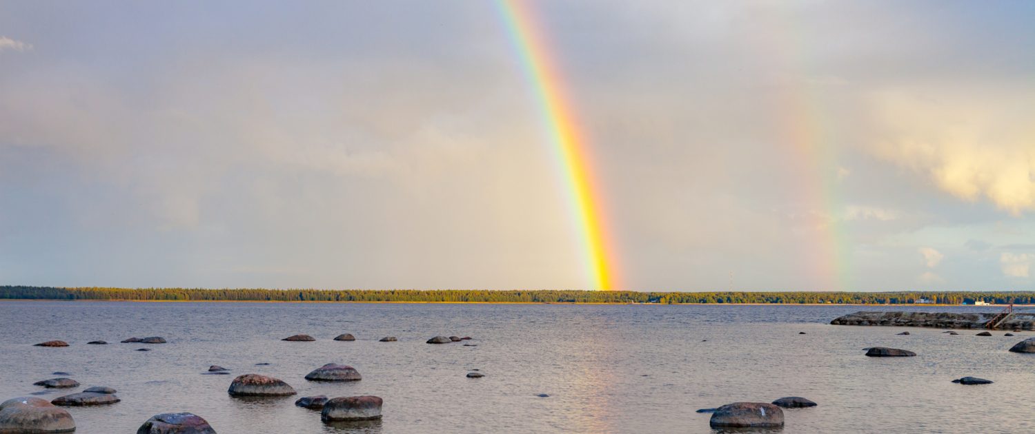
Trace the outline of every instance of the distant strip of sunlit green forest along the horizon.
<instances>
[{"instance_id":1,"label":"distant strip of sunlit green forest along the horizon","mask_svg":"<svg viewBox=\"0 0 1035 434\"><path fill-rule=\"evenodd\" d=\"M200 289L0 286L0 299L235 302L654 303L654 304L1035 304L1035 291L637 292L593 290Z\"/></svg>"}]
</instances>

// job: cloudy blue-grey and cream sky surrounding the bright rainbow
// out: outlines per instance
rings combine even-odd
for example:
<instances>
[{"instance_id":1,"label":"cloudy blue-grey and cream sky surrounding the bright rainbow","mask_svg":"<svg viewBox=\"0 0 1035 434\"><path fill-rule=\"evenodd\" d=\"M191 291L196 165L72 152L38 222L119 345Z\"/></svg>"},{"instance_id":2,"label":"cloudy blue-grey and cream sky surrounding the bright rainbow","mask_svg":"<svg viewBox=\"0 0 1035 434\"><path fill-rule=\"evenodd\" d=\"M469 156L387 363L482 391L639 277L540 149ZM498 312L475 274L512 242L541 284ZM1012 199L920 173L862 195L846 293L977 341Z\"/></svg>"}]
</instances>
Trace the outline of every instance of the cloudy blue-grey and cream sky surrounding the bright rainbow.
<instances>
[{"instance_id":1,"label":"cloudy blue-grey and cream sky surrounding the bright rainbow","mask_svg":"<svg viewBox=\"0 0 1035 434\"><path fill-rule=\"evenodd\" d=\"M1035 289L1035 4L526 4L615 289ZM595 289L491 1L0 1L0 284Z\"/></svg>"}]
</instances>

